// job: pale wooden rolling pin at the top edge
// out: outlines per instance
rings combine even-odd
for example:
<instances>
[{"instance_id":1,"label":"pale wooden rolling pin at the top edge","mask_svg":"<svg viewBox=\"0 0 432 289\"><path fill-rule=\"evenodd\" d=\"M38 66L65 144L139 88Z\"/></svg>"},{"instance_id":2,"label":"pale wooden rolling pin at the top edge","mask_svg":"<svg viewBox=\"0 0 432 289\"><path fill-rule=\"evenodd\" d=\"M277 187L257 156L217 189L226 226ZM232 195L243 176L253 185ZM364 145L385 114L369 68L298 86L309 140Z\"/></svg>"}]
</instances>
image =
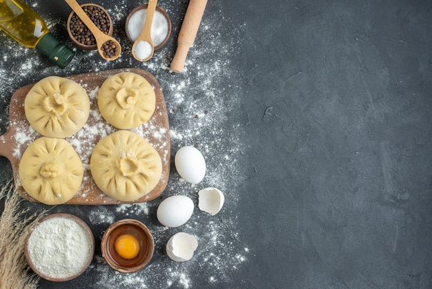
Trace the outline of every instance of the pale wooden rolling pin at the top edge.
<instances>
[{"instance_id":1,"label":"pale wooden rolling pin at the top edge","mask_svg":"<svg viewBox=\"0 0 432 289\"><path fill-rule=\"evenodd\" d=\"M207 0L190 0L183 24L181 24L179 37L177 39L177 50L171 62L170 69L176 73L181 73L188 56L189 48L193 45L197 36L199 24L201 23Z\"/></svg>"}]
</instances>

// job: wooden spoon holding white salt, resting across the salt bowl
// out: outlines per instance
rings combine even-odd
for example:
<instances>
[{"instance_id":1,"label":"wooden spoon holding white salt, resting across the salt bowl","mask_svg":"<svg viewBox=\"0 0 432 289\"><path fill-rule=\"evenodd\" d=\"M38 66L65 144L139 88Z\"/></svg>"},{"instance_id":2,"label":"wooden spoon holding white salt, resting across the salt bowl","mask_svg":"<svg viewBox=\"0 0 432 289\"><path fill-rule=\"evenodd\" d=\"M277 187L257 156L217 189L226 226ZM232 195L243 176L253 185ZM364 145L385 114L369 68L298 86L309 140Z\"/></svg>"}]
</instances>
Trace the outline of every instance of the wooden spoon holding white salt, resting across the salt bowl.
<instances>
[{"instance_id":1,"label":"wooden spoon holding white salt, resting across the salt bowl","mask_svg":"<svg viewBox=\"0 0 432 289\"><path fill-rule=\"evenodd\" d=\"M153 16L155 15L156 3L157 0L148 1L144 28L132 45L132 55L140 62L146 62L153 56L153 52L155 51L150 31L152 28Z\"/></svg>"}]
</instances>

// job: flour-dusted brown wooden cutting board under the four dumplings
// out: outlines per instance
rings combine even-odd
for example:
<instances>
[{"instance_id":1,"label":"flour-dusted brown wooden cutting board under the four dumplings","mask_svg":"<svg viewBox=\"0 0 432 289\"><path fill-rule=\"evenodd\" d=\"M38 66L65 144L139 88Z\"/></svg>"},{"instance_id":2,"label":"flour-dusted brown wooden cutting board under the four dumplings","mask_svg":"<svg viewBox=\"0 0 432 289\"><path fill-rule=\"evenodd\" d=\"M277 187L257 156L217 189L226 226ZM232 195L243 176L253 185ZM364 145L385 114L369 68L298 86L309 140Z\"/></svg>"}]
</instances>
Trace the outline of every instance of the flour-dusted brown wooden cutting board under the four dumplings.
<instances>
[{"instance_id":1,"label":"flour-dusted brown wooden cutting board under the four dumplings","mask_svg":"<svg viewBox=\"0 0 432 289\"><path fill-rule=\"evenodd\" d=\"M90 173L90 156L93 148L104 136L117 131L101 117L97 107L97 91L104 81L117 73L130 71L142 75L154 88L156 95L156 108L152 118L137 129L130 129L134 133L143 136L157 150L162 160L162 176L159 183L146 196L135 201L121 202L110 198L97 187ZM113 205L121 203L142 203L151 201L159 196L168 183L170 174L170 129L168 124L168 113L164 100L164 93L156 80L156 77L147 71L138 68L121 68L108 71L82 73L72 75L69 78L83 86L90 97L90 115L84 127L66 140L74 147L84 165L84 178L79 192L70 199L68 205ZM29 196L19 181L19 161L23 152L31 142L41 137L32 127L24 112L24 100L30 88L35 84L28 84L19 88L10 100L10 122L6 133L0 136L0 156L10 160L14 176L15 186L23 198L28 201L36 200Z\"/></svg>"}]
</instances>

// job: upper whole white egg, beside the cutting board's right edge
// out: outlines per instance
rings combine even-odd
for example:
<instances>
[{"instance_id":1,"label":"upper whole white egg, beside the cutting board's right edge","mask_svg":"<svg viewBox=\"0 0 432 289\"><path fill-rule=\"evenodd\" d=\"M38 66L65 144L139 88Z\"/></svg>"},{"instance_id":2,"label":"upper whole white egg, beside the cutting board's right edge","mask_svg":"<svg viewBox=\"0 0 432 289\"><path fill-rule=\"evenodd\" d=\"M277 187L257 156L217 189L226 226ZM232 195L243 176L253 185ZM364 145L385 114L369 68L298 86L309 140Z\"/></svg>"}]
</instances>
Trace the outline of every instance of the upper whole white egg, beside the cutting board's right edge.
<instances>
[{"instance_id":1,"label":"upper whole white egg, beside the cutting board's right edge","mask_svg":"<svg viewBox=\"0 0 432 289\"><path fill-rule=\"evenodd\" d=\"M177 172L188 183L197 184L206 175L206 160L195 147L186 146L179 149L174 162Z\"/></svg>"}]
</instances>

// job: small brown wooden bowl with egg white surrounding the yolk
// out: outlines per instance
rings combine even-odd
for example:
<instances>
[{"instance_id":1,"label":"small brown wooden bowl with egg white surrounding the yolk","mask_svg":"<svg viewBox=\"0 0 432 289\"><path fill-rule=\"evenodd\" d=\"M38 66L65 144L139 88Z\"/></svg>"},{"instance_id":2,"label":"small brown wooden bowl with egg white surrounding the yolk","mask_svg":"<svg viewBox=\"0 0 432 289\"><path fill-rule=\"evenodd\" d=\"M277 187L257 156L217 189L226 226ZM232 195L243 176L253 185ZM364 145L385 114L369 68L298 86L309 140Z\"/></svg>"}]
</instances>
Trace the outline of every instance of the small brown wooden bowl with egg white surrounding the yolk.
<instances>
[{"instance_id":1,"label":"small brown wooden bowl with egg white surrounding the yolk","mask_svg":"<svg viewBox=\"0 0 432 289\"><path fill-rule=\"evenodd\" d=\"M117 238L124 234L135 236L139 243L139 253L133 259L123 259L115 250ZM137 272L150 263L155 252L155 241L146 225L137 220L124 219L108 227L102 237L101 252L112 269L122 273Z\"/></svg>"}]
</instances>

